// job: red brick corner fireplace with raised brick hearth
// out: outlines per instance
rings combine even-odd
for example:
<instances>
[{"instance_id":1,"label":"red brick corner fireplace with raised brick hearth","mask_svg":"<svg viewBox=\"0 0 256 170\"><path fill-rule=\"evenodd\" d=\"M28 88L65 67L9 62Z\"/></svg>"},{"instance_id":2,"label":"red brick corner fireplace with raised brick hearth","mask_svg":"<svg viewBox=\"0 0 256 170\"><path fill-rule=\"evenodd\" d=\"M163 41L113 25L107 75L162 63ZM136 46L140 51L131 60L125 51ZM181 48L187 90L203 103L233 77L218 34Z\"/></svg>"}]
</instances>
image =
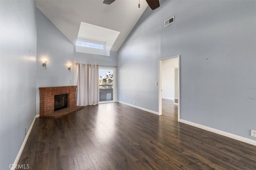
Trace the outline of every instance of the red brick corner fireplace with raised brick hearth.
<instances>
[{"instance_id":1,"label":"red brick corner fireplace with raised brick hearth","mask_svg":"<svg viewBox=\"0 0 256 170\"><path fill-rule=\"evenodd\" d=\"M67 107L54 111L54 96L67 94ZM56 118L77 111L83 107L76 106L76 86L40 87L40 117Z\"/></svg>"}]
</instances>

